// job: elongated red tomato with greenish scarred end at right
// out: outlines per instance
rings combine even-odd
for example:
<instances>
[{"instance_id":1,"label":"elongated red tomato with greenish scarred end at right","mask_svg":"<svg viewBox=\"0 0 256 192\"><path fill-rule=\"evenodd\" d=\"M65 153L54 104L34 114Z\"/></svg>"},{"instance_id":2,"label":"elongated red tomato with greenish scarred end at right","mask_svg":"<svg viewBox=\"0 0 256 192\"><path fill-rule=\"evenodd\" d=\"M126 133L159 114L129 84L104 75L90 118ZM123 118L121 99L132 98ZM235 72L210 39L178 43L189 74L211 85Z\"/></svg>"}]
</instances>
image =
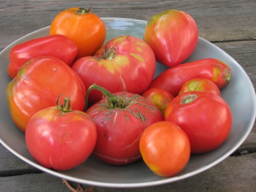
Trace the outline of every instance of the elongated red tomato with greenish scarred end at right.
<instances>
[{"instance_id":1,"label":"elongated red tomato with greenish scarred end at right","mask_svg":"<svg viewBox=\"0 0 256 192\"><path fill-rule=\"evenodd\" d=\"M176 97L183 84L190 79L209 79L221 89L228 84L230 77L231 69L226 63L214 58L207 58L166 69L152 80L148 89L163 88Z\"/></svg>"}]
</instances>

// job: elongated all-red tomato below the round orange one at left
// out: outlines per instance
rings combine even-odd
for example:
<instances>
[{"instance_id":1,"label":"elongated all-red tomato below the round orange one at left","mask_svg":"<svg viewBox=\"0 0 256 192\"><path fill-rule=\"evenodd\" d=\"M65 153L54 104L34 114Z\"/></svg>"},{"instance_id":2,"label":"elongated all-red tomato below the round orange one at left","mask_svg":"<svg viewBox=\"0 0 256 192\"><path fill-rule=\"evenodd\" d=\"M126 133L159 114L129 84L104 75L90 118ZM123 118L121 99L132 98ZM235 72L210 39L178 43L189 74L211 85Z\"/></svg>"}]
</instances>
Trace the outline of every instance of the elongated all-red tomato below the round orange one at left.
<instances>
[{"instance_id":1,"label":"elongated all-red tomato below the round orange one at left","mask_svg":"<svg viewBox=\"0 0 256 192\"><path fill-rule=\"evenodd\" d=\"M77 47L67 36L51 35L34 38L12 48L8 74L13 79L24 63L38 56L52 56L71 66L76 54Z\"/></svg>"}]
</instances>

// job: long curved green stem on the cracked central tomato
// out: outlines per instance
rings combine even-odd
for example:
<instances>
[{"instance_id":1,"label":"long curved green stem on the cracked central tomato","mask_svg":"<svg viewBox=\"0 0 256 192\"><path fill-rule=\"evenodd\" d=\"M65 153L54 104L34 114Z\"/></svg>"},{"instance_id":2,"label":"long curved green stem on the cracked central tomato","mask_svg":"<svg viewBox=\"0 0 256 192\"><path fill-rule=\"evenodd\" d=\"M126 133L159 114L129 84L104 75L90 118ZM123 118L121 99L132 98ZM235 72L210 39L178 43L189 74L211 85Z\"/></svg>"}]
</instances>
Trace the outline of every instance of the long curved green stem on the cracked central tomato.
<instances>
[{"instance_id":1,"label":"long curved green stem on the cracked central tomato","mask_svg":"<svg viewBox=\"0 0 256 192\"><path fill-rule=\"evenodd\" d=\"M114 108L124 108L124 99L123 98L119 98L116 97L116 95L110 93L108 90L106 90L105 88L102 88L101 86L97 85L97 84L93 84L91 85L85 95L85 106L84 106L84 111L86 111L86 109L88 108L88 95L90 93L90 91L92 90L99 90L100 92L103 93L103 97L108 97L108 104L109 104L109 108L114 109Z\"/></svg>"}]
</instances>

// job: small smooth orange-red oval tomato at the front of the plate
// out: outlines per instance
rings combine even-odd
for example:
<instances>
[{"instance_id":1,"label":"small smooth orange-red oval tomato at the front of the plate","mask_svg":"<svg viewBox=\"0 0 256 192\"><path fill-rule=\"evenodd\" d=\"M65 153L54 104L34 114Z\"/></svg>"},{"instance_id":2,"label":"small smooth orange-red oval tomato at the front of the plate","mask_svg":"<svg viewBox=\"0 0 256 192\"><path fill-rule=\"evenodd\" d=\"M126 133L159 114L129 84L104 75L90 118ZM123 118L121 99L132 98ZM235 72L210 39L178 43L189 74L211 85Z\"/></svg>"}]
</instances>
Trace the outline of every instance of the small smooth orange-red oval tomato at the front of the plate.
<instances>
[{"instance_id":1,"label":"small smooth orange-red oval tomato at the front of the plate","mask_svg":"<svg viewBox=\"0 0 256 192\"><path fill-rule=\"evenodd\" d=\"M148 126L141 134L140 152L152 172L171 177L188 164L190 143L178 125L162 121Z\"/></svg>"}]
</instances>

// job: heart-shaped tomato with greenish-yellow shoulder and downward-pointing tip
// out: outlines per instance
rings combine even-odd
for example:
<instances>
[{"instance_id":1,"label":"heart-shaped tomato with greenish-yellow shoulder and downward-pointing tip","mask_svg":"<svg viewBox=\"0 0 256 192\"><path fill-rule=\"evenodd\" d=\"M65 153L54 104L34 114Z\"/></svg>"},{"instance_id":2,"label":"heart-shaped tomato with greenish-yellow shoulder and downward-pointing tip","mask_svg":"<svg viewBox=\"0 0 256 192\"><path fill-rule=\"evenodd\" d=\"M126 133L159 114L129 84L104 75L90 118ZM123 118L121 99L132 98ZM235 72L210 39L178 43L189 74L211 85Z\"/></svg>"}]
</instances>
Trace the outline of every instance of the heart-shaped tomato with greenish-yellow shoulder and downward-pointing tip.
<instances>
[{"instance_id":1,"label":"heart-shaped tomato with greenish-yellow shoulder and downward-pointing tip","mask_svg":"<svg viewBox=\"0 0 256 192\"><path fill-rule=\"evenodd\" d=\"M173 67L189 58L195 50L198 29L188 13L166 10L150 17L143 40L152 47L157 61Z\"/></svg>"}]
</instances>

